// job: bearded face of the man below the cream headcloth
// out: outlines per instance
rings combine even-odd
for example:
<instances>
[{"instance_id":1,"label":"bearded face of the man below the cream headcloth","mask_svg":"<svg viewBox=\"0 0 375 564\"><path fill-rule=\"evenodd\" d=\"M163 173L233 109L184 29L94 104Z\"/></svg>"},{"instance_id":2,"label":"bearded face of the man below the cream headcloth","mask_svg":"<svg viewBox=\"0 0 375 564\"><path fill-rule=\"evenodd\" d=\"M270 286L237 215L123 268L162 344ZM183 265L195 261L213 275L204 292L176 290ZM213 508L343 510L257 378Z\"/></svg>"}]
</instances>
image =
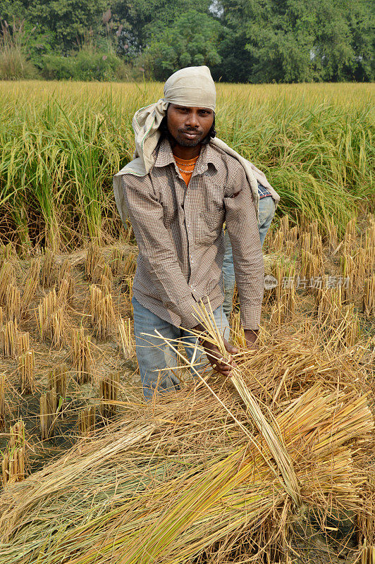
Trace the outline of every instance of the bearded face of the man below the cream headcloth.
<instances>
[{"instance_id":1,"label":"bearded face of the man below the cream headcloth","mask_svg":"<svg viewBox=\"0 0 375 564\"><path fill-rule=\"evenodd\" d=\"M196 147L206 137L214 123L214 112L169 104L166 123L168 131L181 147Z\"/></svg>"}]
</instances>

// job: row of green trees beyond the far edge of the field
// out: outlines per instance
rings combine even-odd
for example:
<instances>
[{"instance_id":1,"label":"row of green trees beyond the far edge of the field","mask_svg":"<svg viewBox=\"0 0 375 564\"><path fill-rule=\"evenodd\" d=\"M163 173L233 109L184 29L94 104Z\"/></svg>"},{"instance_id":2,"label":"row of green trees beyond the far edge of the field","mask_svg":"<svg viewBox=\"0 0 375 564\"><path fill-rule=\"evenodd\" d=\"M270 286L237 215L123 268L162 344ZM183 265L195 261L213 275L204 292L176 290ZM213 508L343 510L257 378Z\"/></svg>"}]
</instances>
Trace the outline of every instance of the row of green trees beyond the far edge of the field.
<instances>
[{"instance_id":1,"label":"row of green trees beyond the far edge of the field","mask_svg":"<svg viewBox=\"0 0 375 564\"><path fill-rule=\"evenodd\" d=\"M0 0L0 20L16 25L24 20L24 54L42 71L48 66L44 77L66 76L71 68L70 78L75 78L78 63L61 57L71 58L89 42L97 57L118 56L135 69L135 76L145 71L157 80L165 80L181 66L207 63L217 80L230 82L371 81L374 4L374 0ZM114 72L113 66L121 68L119 61L111 68L99 65L97 73L88 75L94 80L122 80L123 71ZM1 76L5 78L0 66Z\"/></svg>"}]
</instances>

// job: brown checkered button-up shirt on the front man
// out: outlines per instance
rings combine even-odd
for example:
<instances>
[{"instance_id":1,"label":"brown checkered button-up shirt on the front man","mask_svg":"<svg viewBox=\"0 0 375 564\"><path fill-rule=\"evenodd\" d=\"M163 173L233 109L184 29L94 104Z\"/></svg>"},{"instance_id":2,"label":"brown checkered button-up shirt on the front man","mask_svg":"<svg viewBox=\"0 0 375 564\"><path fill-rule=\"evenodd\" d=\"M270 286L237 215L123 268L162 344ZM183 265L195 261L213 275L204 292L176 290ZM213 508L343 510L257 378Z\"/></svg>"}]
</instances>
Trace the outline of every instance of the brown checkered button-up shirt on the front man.
<instances>
[{"instance_id":1,"label":"brown checkered button-up shirt on the front man","mask_svg":"<svg viewBox=\"0 0 375 564\"><path fill-rule=\"evenodd\" d=\"M123 176L139 247L133 294L175 326L197 325L197 302L223 303L223 223L233 247L244 329L258 329L264 262L250 186L239 162L214 145L199 154L188 187L164 139L147 176Z\"/></svg>"}]
</instances>

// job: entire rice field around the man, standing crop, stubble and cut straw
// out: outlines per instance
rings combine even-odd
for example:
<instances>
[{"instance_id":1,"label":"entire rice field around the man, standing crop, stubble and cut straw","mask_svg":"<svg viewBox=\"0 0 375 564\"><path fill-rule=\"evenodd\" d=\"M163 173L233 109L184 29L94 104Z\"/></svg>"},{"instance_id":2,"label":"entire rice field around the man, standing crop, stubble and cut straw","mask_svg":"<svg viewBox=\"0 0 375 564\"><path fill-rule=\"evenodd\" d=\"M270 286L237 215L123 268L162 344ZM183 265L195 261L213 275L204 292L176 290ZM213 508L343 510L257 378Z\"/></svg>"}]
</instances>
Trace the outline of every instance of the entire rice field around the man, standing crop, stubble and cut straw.
<instances>
[{"instance_id":1,"label":"entire rice field around the man, standing crop, stubble and cut straw","mask_svg":"<svg viewBox=\"0 0 375 564\"><path fill-rule=\"evenodd\" d=\"M0 90L0 564L374 564L371 85L219 85L219 135L284 195L259 349L235 297L233 376L161 341L182 389L149 405L110 186L160 85Z\"/></svg>"}]
</instances>

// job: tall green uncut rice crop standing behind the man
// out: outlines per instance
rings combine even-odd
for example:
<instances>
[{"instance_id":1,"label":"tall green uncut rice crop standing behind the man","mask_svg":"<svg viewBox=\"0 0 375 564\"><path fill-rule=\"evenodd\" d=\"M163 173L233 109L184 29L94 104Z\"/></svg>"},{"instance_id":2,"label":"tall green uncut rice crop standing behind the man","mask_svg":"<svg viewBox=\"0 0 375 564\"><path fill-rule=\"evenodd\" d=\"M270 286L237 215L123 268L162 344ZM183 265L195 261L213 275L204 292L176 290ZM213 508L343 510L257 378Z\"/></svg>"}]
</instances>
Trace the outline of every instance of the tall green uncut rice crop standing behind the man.
<instances>
[{"instance_id":1,"label":"tall green uncut rice crop standing behind the man","mask_svg":"<svg viewBox=\"0 0 375 564\"><path fill-rule=\"evenodd\" d=\"M121 231L112 176L133 155L133 113L162 85L0 85L0 237L55 248ZM262 168L280 212L339 231L374 209L373 85L218 85L216 129ZM372 200L371 200L372 198Z\"/></svg>"}]
</instances>

